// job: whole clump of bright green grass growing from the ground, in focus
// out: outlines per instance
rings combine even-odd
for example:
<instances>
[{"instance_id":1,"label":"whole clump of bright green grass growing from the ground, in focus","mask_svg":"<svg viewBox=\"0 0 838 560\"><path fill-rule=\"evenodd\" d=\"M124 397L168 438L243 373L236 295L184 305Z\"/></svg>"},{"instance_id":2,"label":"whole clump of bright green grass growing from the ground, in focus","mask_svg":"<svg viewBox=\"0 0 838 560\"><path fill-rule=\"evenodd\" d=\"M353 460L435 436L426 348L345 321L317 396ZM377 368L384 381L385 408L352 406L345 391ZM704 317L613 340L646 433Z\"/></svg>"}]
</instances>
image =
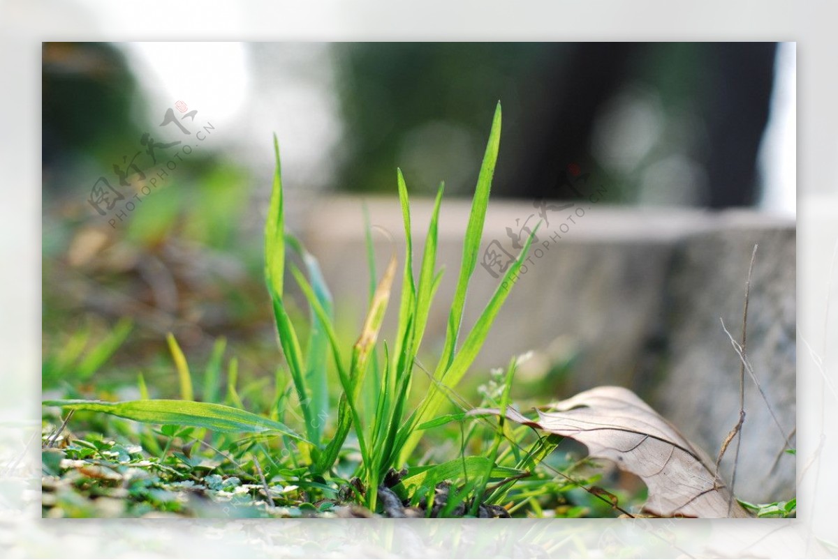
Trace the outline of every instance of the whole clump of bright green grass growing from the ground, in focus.
<instances>
[{"instance_id":1,"label":"whole clump of bright green grass growing from the ground, in focus","mask_svg":"<svg viewBox=\"0 0 838 560\"><path fill-rule=\"evenodd\" d=\"M421 265L415 273L408 188L401 171L396 172L406 245L401 294L397 301L391 302L391 289L398 274L395 251L380 278L375 279L368 224L369 265L374 277L370 302L360 336L354 344L344 345L336 333L332 297L317 259L285 229L282 166L275 137L277 164L265 227L265 280L284 367L277 372L274 398L267 404L266 414L243 409L245 406L236 388L235 360L228 364L227 390L222 397L222 357L225 352L222 340L216 343L204 371L199 390L201 402L195 401L193 375L186 357L171 336L168 344L178 372L181 400L148 399L141 377L140 392L144 398L140 400L122 403L49 400L44 405L106 413L146 424L163 424L159 431L139 434L146 449L156 452L160 460L178 444L184 444L185 438L206 442L240 470L241 461L249 457L247 465L258 470L261 480L292 476L300 487L321 492L323 496L338 496L338 491L343 489L344 495L354 496L355 501L370 511L382 511L381 492L384 495L395 493L398 500L410 506L424 505L425 515L435 511L441 516L478 516L486 511L484 502L504 504L510 501L510 496L517 496L518 507L529 505L541 511L539 500L543 496L551 492L558 495L568 487L566 482L556 483L549 475L535 473L535 465L555 448L556 438L538 439L525 450L528 437L525 429L512 429L502 421L496 426L490 424L489 419L468 419L467 431L467 419L463 414L440 415L473 365L509 294L509 290L502 290L500 286L509 283L518 273L535 235L535 231L530 234L518 259L506 270L478 320L470 329L464 330L463 311L477 264L498 157L500 128L498 105L473 195L442 354L436 367L429 372L431 383L427 391L413 394L411 388L416 374L416 356L442 280L442 270L437 269L437 229L443 186L437 192L422 247ZM293 319L286 290L289 278L308 304L308 321ZM396 331L382 341L380 330L388 307L396 307L398 321ZM500 393L486 396L485 404L502 409L510 405L515 363L515 360L510 362L499 379ZM286 375L291 381L288 390L282 388ZM298 420L289 419L297 410ZM414 452L423 434L450 423L459 424L460 450L447 462L417 465L420 458ZM123 424L116 425L125 430ZM475 444L474 436L478 433L488 434L488 438ZM130 435L131 431L126 430L125 434ZM241 434L249 435L245 439L237 437ZM46 441L50 446L54 443L49 438ZM278 456L276 446L272 447L277 441L282 442ZM478 452L468 455L469 450ZM261 455L263 460L256 460L256 455ZM342 457L344 463L339 465ZM261 464L264 464L264 473ZM404 467L407 468L403 470ZM520 491L514 491L516 482L527 477L538 482L539 491L533 491L531 485L520 486ZM437 503L435 493L446 480L452 479L461 484L446 486L446 500ZM265 494L270 497L269 490ZM432 507L434 504L436 509Z\"/></svg>"}]
</instances>

